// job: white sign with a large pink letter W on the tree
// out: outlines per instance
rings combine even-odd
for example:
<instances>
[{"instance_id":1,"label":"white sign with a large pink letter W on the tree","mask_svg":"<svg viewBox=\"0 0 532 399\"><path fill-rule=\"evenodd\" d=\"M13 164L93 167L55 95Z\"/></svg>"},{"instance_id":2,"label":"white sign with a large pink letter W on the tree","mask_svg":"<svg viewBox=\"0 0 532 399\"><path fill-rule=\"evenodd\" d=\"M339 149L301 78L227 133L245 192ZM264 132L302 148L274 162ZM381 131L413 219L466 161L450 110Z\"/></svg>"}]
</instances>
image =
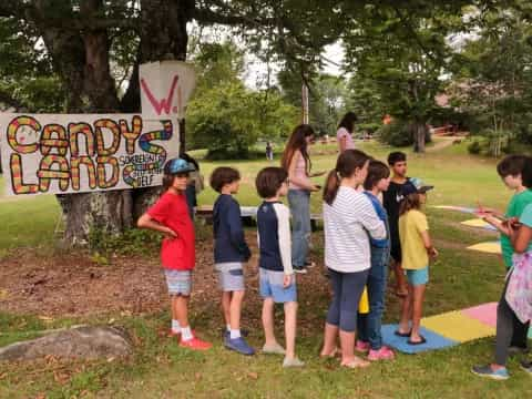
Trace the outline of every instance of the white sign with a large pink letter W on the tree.
<instances>
[{"instance_id":1,"label":"white sign with a large pink letter W on the tree","mask_svg":"<svg viewBox=\"0 0 532 399\"><path fill-rule=\"evenodd\" d=\"M181 61L162 61L142 64L139 72L142 114L183 119L196 84L194 69Z\"/></svg>"}]
</instances>

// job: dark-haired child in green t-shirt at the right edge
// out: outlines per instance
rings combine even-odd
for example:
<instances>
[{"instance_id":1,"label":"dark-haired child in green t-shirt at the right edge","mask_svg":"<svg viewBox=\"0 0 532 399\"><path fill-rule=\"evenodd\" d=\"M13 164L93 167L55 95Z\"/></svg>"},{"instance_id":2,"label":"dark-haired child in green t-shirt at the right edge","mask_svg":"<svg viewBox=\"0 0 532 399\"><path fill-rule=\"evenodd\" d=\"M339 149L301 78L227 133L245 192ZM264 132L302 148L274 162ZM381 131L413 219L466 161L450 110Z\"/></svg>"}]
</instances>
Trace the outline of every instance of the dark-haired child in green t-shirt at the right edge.
<instances>
[{"instance_id":1,"label":"dark-haired child in green t-shirt at the right edge","mask_svg":"<svg viewBox=\"0 0 532 399\"><path fill-rule=\"evenodd\" d=\"M497 172L504 182L504 185L514 192L504 215L493 209L479 208L479 216L501 232L502 257L507 269L512 267L513 247L508 235L509 229L502 221L521 217L526 205L532 203L532 190L530 190L530 187L532 187L532 171L530 170L530 163L531 158L525 155L509 155L497 165ZM530 324L514 326L511 352L528 351L526 335L529 325Z\"/></svg>"}]
</instances>

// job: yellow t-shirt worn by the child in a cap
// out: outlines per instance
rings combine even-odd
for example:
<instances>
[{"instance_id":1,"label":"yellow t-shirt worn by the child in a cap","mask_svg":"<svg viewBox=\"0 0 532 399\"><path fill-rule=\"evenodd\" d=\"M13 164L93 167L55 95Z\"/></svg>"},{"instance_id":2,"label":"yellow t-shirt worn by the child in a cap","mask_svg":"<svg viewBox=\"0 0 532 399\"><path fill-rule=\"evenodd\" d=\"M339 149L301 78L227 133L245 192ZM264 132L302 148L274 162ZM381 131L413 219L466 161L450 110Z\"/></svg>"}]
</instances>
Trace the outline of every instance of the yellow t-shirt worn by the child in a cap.
<instances>
[{"instance_id":1,"label":"yellow t-shirt worn by the child in a cap","mask_svg":"<svg viewBox=\"0 0 532 399\"><path fill-rule=\"evenodd\" d=\"M429 255L421 237L421 233L428 229L427 217L419 211L411 209L399 217L403 269L422 269L429 266Z\"/></svg>"}]
</instances>

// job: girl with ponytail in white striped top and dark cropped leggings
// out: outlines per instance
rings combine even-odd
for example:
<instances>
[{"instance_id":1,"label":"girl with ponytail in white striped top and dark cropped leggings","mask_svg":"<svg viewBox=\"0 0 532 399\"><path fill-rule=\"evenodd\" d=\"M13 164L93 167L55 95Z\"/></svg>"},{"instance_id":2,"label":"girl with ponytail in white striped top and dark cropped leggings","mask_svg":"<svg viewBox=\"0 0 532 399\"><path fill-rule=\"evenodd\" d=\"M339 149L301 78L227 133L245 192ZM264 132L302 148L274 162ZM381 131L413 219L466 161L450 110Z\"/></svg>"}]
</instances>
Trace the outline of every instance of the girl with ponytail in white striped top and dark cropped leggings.
<instances>
[{"instance_id":1,"label":"girl with ponytail in white striped top and dark cropped leggings","mask_svg":"<svg viewBox=\"0 0 532 399\"><path fill-rule=\"evenodd\" d=\"M366 180L369 156L364 152L346 150L324 190L325 265L334 294L321 356L335 355L339 331L341 366L349 368L369 365L354 352L358 304L370 267L368 234L376 239L386 237L385 223L370 200L355 190Z\"/></svg>"}]
</instances>

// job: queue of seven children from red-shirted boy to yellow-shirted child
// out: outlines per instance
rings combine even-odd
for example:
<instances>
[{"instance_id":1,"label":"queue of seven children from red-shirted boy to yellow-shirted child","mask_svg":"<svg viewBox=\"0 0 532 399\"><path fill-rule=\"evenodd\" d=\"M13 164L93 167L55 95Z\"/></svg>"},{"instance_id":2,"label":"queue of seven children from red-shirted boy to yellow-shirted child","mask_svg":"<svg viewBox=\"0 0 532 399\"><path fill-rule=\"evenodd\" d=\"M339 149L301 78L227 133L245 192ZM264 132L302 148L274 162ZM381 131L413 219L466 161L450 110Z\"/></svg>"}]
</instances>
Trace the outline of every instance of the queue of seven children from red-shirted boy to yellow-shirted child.
<instances>
[{"instance_id":1,"label":"queue of seven children from red-shirted boy to yellow-shirted child","mask_svg":"<svg viewBox=\"0 0 532 399\"><path fill-rule=\"evenodd\" d=\"M341 365L346 367L368 365L354 356L354 350L367 352L368 360L395 357L391 349L382 345L380 336L390 248L399 276L399 294L401 289L406 294L396 334L408 336L411 345L424 341L419 334L419 323L429 257L436 256L437 252L420 208L426 192L432 187L406 177L405 154L392 153L388 161L393 171L391 182L386 164L361 151L346 150L338 157L324 190L325 263L334 295L321 356L336 355L339 337ZM195 335L187 318L195 258L194 227L183 194L194 170L193 164L182 158L168 161L164 168L165 191L137 225L165 236L161 258L172 298L170 335L177 336L182 347L205 350L212 345ZM249 260L250 250L241 221L241 207L233 196L238 192L239 182L241 175L233 167L218 167L211 175L211 186L219 193L213 208L214 263L226 325L224 345L239 354L254 355L255 349L241 329L246 289L243 265ZM295 351L298 305L291 262L290 213L282 202L288 184L287 171L282 167L262 170L255 182L263 198L257 209L259 293L264 299L265 344L262 350L284 355L284 367L300 367L304 362ZM401 266L406 269L408 289L401 285ZM357 315L365 287L370 311ZM276 303L284 304L285 347L274 334ZM355 340L355 330L358 330L358 340Z\"/></svg>"}]
</instances>

